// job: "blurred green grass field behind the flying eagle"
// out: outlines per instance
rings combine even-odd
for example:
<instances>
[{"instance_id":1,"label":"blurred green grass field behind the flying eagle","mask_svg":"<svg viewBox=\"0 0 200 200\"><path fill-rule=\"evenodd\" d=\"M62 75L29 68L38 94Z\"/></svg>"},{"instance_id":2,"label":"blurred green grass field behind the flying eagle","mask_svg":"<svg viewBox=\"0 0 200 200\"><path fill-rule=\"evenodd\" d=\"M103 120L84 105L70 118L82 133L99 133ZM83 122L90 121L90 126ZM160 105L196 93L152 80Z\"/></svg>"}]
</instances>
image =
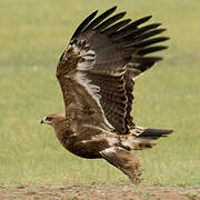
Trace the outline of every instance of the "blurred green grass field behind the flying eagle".
<instances>
[{"instance_id":1,"label":"blurred green grass field behind the flying eagle","mask_svg":"<svg viewBox=\"0 0 200 200\"><path fill-rule=\"evenodd\" d=\"M103 160L67 152L53 130L39 124L63 112L54 77L74 28L96 8L119 4L137 19L153 14L168 28L166 60L137 80L134 121L173 128L152 150L137 152L143 183L200 186L200 26L198 0L0 0L0 183L127 181ZM133 152L134 153L134 152Z\"/></svg>"}]
</instances>

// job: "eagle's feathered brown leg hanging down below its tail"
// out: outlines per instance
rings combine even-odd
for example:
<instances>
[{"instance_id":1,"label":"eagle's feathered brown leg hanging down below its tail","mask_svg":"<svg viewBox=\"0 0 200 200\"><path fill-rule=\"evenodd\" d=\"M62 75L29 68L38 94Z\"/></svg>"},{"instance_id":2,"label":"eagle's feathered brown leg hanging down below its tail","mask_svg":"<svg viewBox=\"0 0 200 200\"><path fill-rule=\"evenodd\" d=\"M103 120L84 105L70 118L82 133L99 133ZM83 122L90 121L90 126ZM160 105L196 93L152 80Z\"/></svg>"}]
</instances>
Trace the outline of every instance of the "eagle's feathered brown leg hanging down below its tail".
<instances>
[{"instance_id":1,"label":"eagle's feathered brown leg hanging down below its tail","mask_svg":"<svg viewBox=\"0 0 200 200\"><path fill-rule=\"evenodd\" d=\"M131 152L120 147L112 147L100 153L108 162L127 174L133 183L141 181L140 161Z\"/></svg>"}]
</instances>

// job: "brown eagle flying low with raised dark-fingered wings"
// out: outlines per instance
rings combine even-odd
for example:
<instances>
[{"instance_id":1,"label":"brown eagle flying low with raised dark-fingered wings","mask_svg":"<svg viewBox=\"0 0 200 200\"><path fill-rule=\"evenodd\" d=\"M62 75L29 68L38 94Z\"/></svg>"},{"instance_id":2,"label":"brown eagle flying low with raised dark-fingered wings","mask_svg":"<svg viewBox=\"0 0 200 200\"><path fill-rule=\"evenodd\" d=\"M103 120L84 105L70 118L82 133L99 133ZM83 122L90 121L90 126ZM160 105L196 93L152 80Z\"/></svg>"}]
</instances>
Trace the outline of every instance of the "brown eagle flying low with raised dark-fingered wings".
<instances>
[{"instance_id":1,"label":"brown eagle flying low with raised dark-fingered wings","mask_svg":"<svg viewBox=\"0 0 200 200\"><path fill-rule=\"evenodd\" d=\"M143 24L151 16L132 21L116 9L92 12L72 34L56 70L66 114L51 113L41 123L71 153L104 159L137 183L141 164L131 150L152 148L172 130L134 124L134 79L162 60L149 54L167 49L160 42L169 38L160 36L161 23Z\"/></svg>"}]
</instances>

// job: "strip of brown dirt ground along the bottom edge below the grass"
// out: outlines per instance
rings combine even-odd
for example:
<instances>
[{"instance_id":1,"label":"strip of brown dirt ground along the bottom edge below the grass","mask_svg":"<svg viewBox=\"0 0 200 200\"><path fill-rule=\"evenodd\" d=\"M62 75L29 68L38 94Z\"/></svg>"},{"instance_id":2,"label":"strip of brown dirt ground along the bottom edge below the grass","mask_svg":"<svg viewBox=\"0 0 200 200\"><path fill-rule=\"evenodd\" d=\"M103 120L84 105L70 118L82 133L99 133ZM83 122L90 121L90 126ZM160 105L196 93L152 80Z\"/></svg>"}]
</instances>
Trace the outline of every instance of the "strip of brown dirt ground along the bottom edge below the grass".
<instances>
[{"instance_id":1,"label":"strip of brown dirt ground along the bottom edge below the grass","mask_svg":"<svg viewBox=\"0 0 200 200\"><path fill-rule=\"evenodd\" d=\"M200 189L131 184L0 187L0 200L200 200Z\"/></svg>"}]
</instances>

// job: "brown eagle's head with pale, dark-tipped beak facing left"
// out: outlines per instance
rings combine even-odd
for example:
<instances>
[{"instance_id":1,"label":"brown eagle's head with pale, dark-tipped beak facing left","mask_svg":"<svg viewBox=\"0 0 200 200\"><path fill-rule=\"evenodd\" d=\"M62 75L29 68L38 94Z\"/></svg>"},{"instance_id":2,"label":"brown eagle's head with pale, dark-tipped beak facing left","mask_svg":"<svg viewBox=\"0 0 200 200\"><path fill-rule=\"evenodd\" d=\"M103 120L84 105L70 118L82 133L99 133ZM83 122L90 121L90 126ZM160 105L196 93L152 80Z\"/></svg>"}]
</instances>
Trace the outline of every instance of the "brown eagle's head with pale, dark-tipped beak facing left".
<instances>
[{"instance_id":1,"label":"brown eagle's head with pale, dark-tipped beak facing left","mask_svg":"<svg viewBox=\"0 0 200 200\"><path fill-rule=\"evenodd\" d=\"M40 123L50 124L53 128L61 126L66 122L66 117L61 113L51 113L44 117Z\"/></svg>"}]
</instances>

